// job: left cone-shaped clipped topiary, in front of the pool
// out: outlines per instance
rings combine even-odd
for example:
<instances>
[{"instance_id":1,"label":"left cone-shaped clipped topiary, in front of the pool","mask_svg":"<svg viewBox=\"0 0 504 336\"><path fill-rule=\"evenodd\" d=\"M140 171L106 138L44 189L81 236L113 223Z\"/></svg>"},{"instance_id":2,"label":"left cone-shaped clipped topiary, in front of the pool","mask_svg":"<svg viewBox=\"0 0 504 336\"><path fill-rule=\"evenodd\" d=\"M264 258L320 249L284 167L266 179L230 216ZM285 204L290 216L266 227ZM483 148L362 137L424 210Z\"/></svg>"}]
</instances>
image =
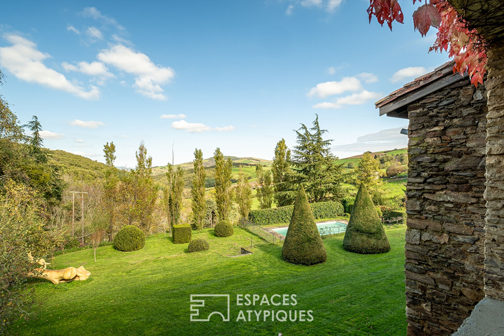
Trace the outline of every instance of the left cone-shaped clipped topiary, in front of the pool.
<instances>
[{"instance_id":1,"label":"left cone-shaped clipped topiary, in front of the pool","mask_svg":"<svg viewBox=\"0 0 504 336\"><path fill-rule=\"evenodd\" d=\"M294 201L294 210L282 247L282 257L286 261L302 265L313 265L327 259L326 248L303 186L299 188Z\"/></svg>"}]
</instances>

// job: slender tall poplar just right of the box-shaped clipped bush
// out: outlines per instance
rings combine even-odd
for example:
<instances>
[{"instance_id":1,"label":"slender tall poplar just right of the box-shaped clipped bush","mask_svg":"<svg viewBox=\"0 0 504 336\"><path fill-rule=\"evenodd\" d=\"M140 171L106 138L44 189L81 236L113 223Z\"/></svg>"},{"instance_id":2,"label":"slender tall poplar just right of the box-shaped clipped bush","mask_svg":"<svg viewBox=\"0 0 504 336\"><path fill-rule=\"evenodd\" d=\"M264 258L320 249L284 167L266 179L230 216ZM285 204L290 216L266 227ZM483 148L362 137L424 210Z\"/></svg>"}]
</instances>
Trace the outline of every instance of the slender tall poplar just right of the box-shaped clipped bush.
<instances>
[{"instance_id":1,"label":"slender tall poplar just right of the box-shaped clipped bush","mask_svg":"<svg viewBox=\"0 0 504 336\"><path fill-rule=\"evenodd\" d=\"M203 166L203 152L196 149L194 152L194 178L191 188L193 194L192 208L198 230L203 229L207 212L207 202L205 200L205 167Z\"/></svg>"}]
</instances>

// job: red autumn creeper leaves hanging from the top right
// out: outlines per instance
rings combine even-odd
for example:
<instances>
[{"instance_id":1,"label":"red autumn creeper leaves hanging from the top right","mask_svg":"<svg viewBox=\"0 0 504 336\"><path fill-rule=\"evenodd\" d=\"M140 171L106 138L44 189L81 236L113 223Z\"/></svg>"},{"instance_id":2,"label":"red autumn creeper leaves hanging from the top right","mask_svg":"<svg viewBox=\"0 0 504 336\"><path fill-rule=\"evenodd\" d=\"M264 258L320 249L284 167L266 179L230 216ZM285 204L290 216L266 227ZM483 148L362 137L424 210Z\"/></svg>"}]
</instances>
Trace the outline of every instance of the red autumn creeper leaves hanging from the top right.
<instances>
[{"instance_id":1,"label":"red autumn creeper leaves hanging from the top right","mask_svg":"<svg viewBox=\"0 0 504 336\"><path fill-rule=\"evenodd\" d=\"M448 52L449 57L454 57L455 60L454 73L469 74L471 83L475 86L483 84L487 42L447 0L413 0L413 4L417 1L423 5L413 12L415 30L425 36L430 27L437 28L436 39L429 52ZM404 15L399 0L369 0L369 3L369 22L375 16L382 26L387 23L391 30L394 21L403 23Z\"/></svg>"}]
</instances>

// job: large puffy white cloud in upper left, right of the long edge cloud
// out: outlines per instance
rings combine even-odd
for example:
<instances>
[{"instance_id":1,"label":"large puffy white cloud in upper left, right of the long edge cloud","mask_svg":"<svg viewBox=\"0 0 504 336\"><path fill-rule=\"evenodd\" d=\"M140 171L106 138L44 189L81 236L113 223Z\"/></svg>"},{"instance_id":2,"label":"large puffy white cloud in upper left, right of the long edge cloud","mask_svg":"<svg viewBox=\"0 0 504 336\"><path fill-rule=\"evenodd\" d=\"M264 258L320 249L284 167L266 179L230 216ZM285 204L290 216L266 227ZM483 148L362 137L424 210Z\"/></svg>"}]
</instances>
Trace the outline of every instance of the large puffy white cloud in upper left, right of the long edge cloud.
<instances>
[{"instance_id":1,"label":"large puffy white cloud in upper left, right of the long edge cloud","mask_svg":"<svg viewBox=\"0 0 504 336\"><path fill-rule=\"evenodd\" d=\"M143 96L157 100L166 99L160 85L168 83L175 76L175 72L169 66L165 68L156 65L146 54L135 52L122 44L102 50L97 58L121 71L135 75L133 86Z\"/></svg>"}]
</instances>

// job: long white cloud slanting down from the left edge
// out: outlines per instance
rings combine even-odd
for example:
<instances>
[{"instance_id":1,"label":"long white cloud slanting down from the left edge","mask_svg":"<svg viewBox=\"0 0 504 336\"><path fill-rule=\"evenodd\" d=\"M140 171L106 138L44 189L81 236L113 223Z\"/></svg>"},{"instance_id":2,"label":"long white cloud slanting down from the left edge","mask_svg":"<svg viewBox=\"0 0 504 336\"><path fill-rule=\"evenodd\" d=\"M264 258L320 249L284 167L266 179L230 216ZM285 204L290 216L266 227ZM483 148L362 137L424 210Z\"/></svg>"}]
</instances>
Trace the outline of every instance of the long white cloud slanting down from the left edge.
<instances>
[{"instance_id":1,"label":"long white cloud slanting down from the left edge","mask_svg":"<svg viewBox=\"0 0 504 336\"><path fill-rule=\"evenodd\" d=\"M4 35L12 43L9 47L0 47L0 66L9 70L18 79L37 83L45 87L62 90L84 99L98 99L100 89L90 85L90 90L75 85L65 75L47 68L43 60L51 57L48 53L37 50L37 45L19 35Z\"/></svg>"}]
</instances>

